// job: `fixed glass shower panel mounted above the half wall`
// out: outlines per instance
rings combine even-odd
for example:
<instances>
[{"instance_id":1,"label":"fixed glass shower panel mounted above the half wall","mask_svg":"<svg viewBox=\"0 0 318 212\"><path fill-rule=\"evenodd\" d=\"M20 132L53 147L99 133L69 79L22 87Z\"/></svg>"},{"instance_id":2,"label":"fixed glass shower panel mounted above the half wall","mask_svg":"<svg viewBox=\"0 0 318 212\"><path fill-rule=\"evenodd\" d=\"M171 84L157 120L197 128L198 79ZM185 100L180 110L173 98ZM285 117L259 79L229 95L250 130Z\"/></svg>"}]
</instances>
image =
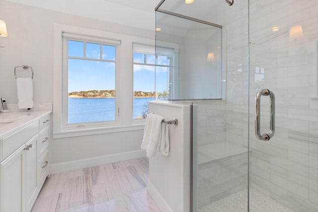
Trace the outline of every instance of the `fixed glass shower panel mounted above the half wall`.
<instances>
[{"instance_id":1,"label":"fixed glass shower panel mounted above the half wall","mask_svg":"<svg viewBox=\"0 0 318 212\"><path fill-rule=\"evenodd\" d=\"M222 29L158 11L156 26L161 28L156 32L156 65L166 62L173 68L166 99L221 99ZM162 60L166 58L160 54L161 47L172 49L174 61ZM159 82L156 78L156 85ZM157 90L161 92L156 87Z\"/></svg>"}]
</instances>

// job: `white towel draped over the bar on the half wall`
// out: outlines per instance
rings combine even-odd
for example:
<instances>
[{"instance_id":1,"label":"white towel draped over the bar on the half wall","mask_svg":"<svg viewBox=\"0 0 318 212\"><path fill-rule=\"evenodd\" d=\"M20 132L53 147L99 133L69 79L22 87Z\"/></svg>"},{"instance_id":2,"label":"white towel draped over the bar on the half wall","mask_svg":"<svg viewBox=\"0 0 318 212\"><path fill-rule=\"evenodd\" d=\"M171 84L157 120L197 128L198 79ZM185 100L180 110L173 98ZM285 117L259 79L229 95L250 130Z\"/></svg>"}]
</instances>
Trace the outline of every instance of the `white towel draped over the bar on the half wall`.
<instances>
[{"instance_id":1,"label":"white towel draped over the bar on the half wall","mask_svg":"<svg viewBox=\"0 0 318 212\"><path fill-rule=\"evenodd\" d=\"M147 157L153 158L156 153L169 153L169 134L164 118L157 114L148 114L141 148L147 151Z\"/></svg>"}]
</instances>

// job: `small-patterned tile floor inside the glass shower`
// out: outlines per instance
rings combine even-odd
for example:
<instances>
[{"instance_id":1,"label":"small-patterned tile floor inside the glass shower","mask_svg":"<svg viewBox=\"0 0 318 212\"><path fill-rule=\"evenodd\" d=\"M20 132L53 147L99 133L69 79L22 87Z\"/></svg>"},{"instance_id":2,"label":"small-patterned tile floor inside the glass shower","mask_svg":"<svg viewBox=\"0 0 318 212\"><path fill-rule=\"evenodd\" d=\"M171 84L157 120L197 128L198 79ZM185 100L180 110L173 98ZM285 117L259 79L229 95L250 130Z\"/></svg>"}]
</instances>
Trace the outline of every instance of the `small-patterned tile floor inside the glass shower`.
<instances>
[{"instance_id":1,"label":"small-patterned tile floor inside the glass shower","mask_svg":"<svg viewBox=\"0 0 318 212\"><path fill-rule=\"evenodd\" d=\"M250 212L294 212L255 189L250 189L250 197ZM203 206L198 212L247 212L247 189Z\"/></svg>"}]
</instances>

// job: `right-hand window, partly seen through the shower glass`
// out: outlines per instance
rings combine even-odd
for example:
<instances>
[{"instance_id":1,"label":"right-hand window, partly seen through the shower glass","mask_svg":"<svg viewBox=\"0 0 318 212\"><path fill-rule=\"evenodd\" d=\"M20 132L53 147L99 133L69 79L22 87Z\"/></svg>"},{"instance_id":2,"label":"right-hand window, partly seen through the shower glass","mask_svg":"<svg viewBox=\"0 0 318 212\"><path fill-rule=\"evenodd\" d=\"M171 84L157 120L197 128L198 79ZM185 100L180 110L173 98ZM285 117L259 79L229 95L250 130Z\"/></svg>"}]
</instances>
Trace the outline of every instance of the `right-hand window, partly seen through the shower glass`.
<instances>
[{"instance_id":1,"label":"right-hand window, partly seen through the shower glass","mask_svg":"<svg viewBox=\"0 0 318 212\"><path fill-rule=\"evenodd\" d=\"M171 97L173 49L133 44L134 50L134 119L146 118L148 101ZM156 88L155 88L156 85ZM156 92L155 92L156 90Z\"/></svg>"}]
</instances>

